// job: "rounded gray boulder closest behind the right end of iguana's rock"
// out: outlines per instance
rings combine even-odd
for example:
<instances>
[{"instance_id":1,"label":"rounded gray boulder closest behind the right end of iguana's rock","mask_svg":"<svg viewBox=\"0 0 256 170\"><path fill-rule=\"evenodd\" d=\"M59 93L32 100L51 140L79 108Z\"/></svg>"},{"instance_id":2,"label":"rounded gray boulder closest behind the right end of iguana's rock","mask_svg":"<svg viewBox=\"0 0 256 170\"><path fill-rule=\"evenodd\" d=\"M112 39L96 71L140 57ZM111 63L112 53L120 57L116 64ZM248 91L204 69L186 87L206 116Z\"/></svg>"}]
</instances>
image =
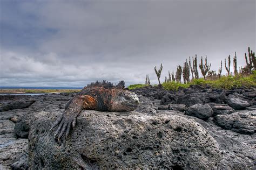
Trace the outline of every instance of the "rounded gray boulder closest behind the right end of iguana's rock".
<instances>
[{"instance_id":1,"label":"rounded gray boulder closest behind the right end of iguana's rock","mask_svg":"<svg viewBox=\"0 0 256 170\"><path fill-rule=\"evenodd\" d=\"M208 104L194 104L186 109L186 115L206 120L213 115L213 110Z\"/></svg>"}]
</instances>

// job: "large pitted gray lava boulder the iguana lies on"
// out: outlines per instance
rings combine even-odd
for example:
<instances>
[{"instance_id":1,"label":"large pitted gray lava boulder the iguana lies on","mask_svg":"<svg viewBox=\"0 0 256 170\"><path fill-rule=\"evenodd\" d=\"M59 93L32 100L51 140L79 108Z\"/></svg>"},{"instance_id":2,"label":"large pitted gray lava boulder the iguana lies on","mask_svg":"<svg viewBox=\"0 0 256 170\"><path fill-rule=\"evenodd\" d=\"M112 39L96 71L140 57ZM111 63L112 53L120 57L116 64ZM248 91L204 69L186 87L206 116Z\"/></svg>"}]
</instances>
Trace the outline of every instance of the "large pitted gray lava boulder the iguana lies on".
<instances>
[{"instance_id":1,"label":"large pitted gray lava boulder the iguana lies on","mask_svg":"<svg viewBox=\"0 0 256 170\"><path fill-rule=\"evenodd\" d=\"M216 169L220 161L216 141L185 117L86 110L63 143L49 131L56 117L49 112L35 116L29 134L31 169Z\"/></svg>"}]
</instances>

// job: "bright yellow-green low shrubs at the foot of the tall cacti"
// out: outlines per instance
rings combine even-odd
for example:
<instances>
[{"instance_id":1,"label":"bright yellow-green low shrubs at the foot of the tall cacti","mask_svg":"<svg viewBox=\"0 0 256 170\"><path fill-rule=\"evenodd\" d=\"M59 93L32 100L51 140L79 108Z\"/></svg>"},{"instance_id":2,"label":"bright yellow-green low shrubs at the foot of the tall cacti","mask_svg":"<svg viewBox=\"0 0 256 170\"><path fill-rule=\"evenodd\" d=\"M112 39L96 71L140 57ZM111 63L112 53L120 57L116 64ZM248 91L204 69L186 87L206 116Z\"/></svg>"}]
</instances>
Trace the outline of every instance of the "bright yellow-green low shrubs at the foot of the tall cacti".
<instances>
[{"instance_id":1,"label":"bright yellow-green low shrubs at the foot of the tall cacti","mask_svg":"<svg viewBox=\"0 0 256 170\"><path fill-rule=\"evenodd\" d=\"M221 76L217 80L204 80L203 78L200 78L193 79L191 82L186 84L171 81L164 82L162 85L166 90L178 90L179 87L188 88L190 85L196 84L200 86L211 86L219 89L232 89L241 86L256 87L256 71L254 70L253 74L249 76Z\"/></svg>"}]
</instances>

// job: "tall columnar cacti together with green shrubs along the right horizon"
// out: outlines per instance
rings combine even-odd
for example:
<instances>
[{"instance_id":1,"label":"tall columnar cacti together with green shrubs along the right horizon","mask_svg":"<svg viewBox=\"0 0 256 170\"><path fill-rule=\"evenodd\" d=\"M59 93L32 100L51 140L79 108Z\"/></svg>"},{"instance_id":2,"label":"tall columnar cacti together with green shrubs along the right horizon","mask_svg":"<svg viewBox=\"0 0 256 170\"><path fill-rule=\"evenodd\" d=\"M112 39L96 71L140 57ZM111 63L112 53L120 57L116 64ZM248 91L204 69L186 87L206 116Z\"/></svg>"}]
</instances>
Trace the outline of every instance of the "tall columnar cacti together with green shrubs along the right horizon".
<instances>
[{"instance_id":1,"label":"tall columnar cacti together with green shrubs along the right horizon","mask_svg":"<svg viewBox=\"0 0 256 170\"><path fill-rule=\"evenodd\" d=\"M205 57L205 62L203 62L203 56L201 57L201 62L197 63L197 54L196 56L189 57L187 62L184 62L184 66L181 68L180 65L177 66L176 74L174 71L169 76L165 77L165 82L160 83L161 70L163 66L161 64L160 69L157 71L157 67L154 67L154 70L157 75L159 82L159 87L163 86L166 90L178 90L179 87L188 88L190 85L200 85L200 86L211 86L213 88L220 89L232 89L238 88L241 86L245 87L256 87L256 58L255 53L248 47L248 55L245 53L246 66L239 67L237 65L237 53L234 53L233 57L233 73L231 70L231 55L228 55L227 60L225 59L225 69L227 71L226 75L222 75L223 62L220 61L220 67L218 73L215 70L210 70L211 63L207 62L207 57ZM199 78L198 66L201 71L202 78ZM190 74L191 73L191 74ZM183 83L181 83L181 75L183 76ZM191 76L192 75L192 79ZM148 79L146 77L146 82ZM147 84L147 83L146 83ZM133 84L130 85L129 89L142 88L146 85L144 84Z\"/></svg>"}]
</instances>

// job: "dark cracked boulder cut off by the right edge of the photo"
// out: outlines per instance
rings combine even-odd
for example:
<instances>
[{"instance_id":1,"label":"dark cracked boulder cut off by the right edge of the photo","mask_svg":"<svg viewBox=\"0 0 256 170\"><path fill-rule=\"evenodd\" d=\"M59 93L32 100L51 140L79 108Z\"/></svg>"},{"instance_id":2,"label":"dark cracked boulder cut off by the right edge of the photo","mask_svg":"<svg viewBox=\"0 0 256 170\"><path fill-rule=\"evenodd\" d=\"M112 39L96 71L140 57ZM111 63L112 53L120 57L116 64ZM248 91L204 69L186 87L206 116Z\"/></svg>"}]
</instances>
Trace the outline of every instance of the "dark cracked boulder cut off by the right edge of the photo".
<instances>
[{"instance_id":1,"label":"dark cracked boulder cut off by the right edge of the photo","mask_svg":"<svg viewBox=\"0 0 256 170\"><path fill-rule=\"evenodd\" d=\"M253 134L256 131L256 116L254 111L234 112L230 115L217 115L215 122L223 129L242 134Z\"/></svg>"}]
</instances>

